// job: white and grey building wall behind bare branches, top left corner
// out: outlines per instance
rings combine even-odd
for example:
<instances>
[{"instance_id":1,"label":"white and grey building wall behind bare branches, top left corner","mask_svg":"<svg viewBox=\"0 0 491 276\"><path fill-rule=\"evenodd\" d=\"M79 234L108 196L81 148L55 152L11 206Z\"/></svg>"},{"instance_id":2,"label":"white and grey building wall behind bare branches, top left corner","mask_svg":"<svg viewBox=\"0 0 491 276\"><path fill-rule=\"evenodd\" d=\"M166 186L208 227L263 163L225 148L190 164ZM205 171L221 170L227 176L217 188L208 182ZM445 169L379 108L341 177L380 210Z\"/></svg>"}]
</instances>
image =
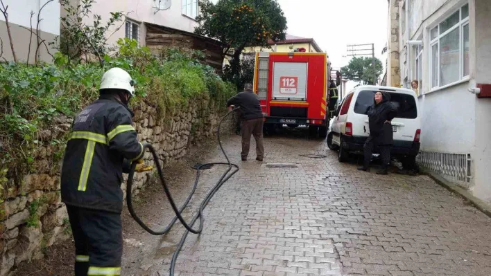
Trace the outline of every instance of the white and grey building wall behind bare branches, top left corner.
<instances>
[{"instance_id":1,"label":"white and grey building wall behind bare branches, top left corner","mask_svg":"<svg viewBox=\"0 0 491 276\"><path fill-rule=\"evenodd\" d=\"M24 29L31 28L31 11L34 12L32 25L35 31L37 24L37 14L40 7L46 3L47 0L29 1L29 0L3 0L5 6L8 6L8 21L10 25L10 34L12 35L12 43L14 44L15 54L17 59L21 62L26 62L29 54L29 40L31 39L31 32ZM40 37L46 40L46 45L49 42L53 42L56 35L60 35L60 3L53 1L48 3L41 12L40 18ZM2 57L8 61L13 60L12 50L10 48L10 40L8 38L6 22L3 15L0 15L0 37L3 41L3 55ZM32 37L31 53L29 55L29 63L35 61L35 51L37 48L37 38L35 35ZM51 46L48 45L50 53L54 53ZM0 51L1 51L0 50ZM2 60L3 60L2 58ZM51 62L51 56L48 54L48 50L44 45L40 46L38 52L38 59Z\"/></svg>"}]
</instances>

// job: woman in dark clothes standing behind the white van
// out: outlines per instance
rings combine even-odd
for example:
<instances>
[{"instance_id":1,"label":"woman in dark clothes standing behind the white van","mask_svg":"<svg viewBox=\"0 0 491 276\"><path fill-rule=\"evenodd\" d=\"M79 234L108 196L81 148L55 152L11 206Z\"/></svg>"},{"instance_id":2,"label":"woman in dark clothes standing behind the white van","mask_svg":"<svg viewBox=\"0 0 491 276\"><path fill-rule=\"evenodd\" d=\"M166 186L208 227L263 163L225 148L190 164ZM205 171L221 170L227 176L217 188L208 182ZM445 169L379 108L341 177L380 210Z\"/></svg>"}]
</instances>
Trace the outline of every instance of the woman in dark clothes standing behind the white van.
<instances>
[{"instance_id":1,"label":"woman in dark clothes standing behind the white van","mask_svg":"<svg viewBox=\"0 0 491 276\"><path fill-rule=\"evenodd\" d=\"M397 115L397 108L390 102L390 95L377 91L374 104L368 108L368 127L370 136L363 145L363 167L361 171L370 171L370 159L374 146L379 147L382 158L382 169L377 174L387 174L390 165L390 147L393 145L393 130L390 121Z\"/></svg>"}]
</instances>

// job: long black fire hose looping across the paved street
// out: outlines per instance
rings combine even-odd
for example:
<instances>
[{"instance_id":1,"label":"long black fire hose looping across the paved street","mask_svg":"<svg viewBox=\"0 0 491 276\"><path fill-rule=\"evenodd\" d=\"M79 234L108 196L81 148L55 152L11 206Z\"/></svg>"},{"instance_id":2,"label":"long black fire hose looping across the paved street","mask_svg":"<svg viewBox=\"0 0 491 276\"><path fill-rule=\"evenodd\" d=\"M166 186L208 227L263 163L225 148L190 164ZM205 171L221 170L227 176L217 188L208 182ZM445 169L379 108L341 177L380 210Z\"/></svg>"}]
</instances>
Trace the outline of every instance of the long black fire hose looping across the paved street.
<instances>
[{"instance_id":1,"label":"long black fire hose looping across the paved street","mask_svg":"<svg viewBox=\"0 0 491 276\"><path fill-rule=\"evenodd\" d=\"M238 108L236 108L236 109L238 109ZM141 226L141 228L144 228L144 230L146 230L146 232L153 234L153 235L157 235L157 236L167 234L171 230L174 223L178 220L180 221L180 223L182 223L182 226L184 226L184 228L186 228L186 230L184 231L184 234L182 234L182 238L180 239L180 242L178 243L178 246L175 249L175 252L172 256L171 266L169 268L169 275L171 275L171 276L174 275L175 261L178 259L179 253L182 249L182 246L184 246L184 242L186 241L186 238L187 238L187 235L189 234L189 232L191 232L193 234L200 234L203 231L203 223L205 221L204 216L203 216L203 211L205 210L209 201L212 199L212 197L218 191L218 189L220 189L220 187L223 185L223 183L225 183L230 177L232 177L236 172L239 171L239 166L237 166L236 164L230 163L230 159L228 158L227 154L225 153L225 150L223 149L223 145L222 145L221 138L220 138L220 128L221 128L221 125L223 123L223 120L225 120L225 118L227 118L227 116L229 116L236 109L229 111L227 114L225 114L225 116L223 116L221 118L220 122L218 123L218 128L216 130L216 137L218 140L218 145L220 146L221 152L222 152L223 156L225 156L225 159L227 160L227 162L226 163L206 163L206 164L201 164L198 167L196 167L196 178L195 178L195 181L193 184L193 188L192 188L191 192L189 193L189 195L187 196L187 199L180 206L180 208L178 208L178 206L175 204L173 197L171 195L171 192L169 191L169 187L167 186L167 183L166 183L165 178L164 178L164 172L162 171L162 167L160 166L160 160L159 160L159 157L157 155L157 151L155 150L155 148L152 145L150 145L148 143L144 144L144 151L146 151L146 149L148 149L153 156L153 160L155 163L155 167L157 168L157 173L158 173L158 176L160 178L160 182L162 183L162 187L164 188L164 192L167 196L167 199L169 200L169 203L171 203L172 210L175 213L175 217L173 217L173 219L171 220L169 225L167 225L162 230L151 229L143 221L141 221L140 217L138 217L135 210L133 209L132 184L133 184L133 176L135 176L135 168L137 166L137 162L133 162L131 165L130 174L128 174L128 183L126 185L126 204L128 205L128 210L130 211L131 217L133 219L135 219L135 221ZM187 223L184 220L184 218L182 217L182 211L187 207L189 201L191 201L191 198L193 197L194 192L196 192L196 187L198 187L198 182L200 180L201 169L203 169L205 167L212 166L212 165L227 165L227 170L221 175L221 178L212 187L212 189L209 190L208 194L205 196L205 199L203 199L203 201L200 203L200 208L198 209L198 212L196 212L196 214L191 219L191 221L189 221L189 223ZM198 219L200 221L198 228L193 228L194 223L196 223L196 221Z\"/></svg>"}]
</instances>

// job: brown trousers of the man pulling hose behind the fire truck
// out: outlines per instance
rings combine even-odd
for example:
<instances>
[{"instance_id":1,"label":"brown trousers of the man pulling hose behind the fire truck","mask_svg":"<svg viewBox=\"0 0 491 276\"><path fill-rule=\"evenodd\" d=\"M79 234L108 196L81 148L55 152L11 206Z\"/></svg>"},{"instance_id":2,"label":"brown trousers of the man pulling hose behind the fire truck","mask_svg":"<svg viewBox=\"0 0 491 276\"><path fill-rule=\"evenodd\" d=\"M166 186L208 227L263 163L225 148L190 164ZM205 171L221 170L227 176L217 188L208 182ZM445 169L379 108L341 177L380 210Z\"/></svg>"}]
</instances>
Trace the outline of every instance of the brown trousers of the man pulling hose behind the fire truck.
<instances>
[{"instance_id":1,"label":"brown trousers of the man pulling hose behind the fire truck","mask_svg":"<svg viewBox=\"0 0 491 276\"><path fill-rule=\"evenodd\" d=\"M242 153L243 159L249 155L250 136L254 136L256 140L256 155L258 159L264 157L264 142L263 142L263 118L243 120L241 125L242 134Z\"/></svg>"}]
</instances>

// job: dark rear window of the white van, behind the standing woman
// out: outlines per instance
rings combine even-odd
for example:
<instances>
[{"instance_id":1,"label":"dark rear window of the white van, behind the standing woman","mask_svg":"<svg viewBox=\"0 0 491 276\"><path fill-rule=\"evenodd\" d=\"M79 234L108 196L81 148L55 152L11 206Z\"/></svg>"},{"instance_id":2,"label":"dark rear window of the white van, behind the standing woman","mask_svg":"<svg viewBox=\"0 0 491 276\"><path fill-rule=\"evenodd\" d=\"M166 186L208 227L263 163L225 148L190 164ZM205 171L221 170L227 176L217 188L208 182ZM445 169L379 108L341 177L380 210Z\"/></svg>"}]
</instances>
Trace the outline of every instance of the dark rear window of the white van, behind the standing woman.
<instances>
[{"instance_id":1,"label":"dark rear window of the white van, behind the standing woman","mask_svg":"<svg viewBox=\"0 0 491 276\"><path fill-rule=\"evenodd\" d=\"M354 103L354 113L366 114L368 108L373 104L373 98L376 91L363 90L358 94ZM417 118L416 101L412 95L402 93L390 93L390 102L397 107L397 116L395 118L415 119Z\"/></svg>"}]
</instances>

